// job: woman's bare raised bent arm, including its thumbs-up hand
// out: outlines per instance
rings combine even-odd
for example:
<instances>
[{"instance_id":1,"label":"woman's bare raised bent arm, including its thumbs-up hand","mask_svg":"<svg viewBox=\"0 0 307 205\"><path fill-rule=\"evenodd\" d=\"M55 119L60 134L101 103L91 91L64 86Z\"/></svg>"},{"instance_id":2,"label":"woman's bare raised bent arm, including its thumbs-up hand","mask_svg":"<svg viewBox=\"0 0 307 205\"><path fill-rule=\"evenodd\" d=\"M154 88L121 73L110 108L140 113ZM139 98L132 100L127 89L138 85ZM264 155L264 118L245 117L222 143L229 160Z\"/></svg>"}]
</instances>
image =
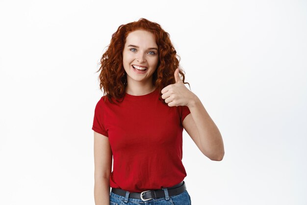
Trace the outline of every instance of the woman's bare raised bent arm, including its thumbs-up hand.
<instances>
[{"instance_id":1,"label":"woman's bare raised bent arm, including its thumbs-up hand","mask_svg":"<svg viewBox=\"0 0 307 205\"><path fill-rule=\"evenodd\" d=\"M219 129L201 100L185 87L179 77L179 69L175 71L175 79L175 84L161 90L162 98L169 106L188 106L191 113L184 118L183 128L205 156L215 161L222 160L225 152Z\"/></svg>"}]
</instances>

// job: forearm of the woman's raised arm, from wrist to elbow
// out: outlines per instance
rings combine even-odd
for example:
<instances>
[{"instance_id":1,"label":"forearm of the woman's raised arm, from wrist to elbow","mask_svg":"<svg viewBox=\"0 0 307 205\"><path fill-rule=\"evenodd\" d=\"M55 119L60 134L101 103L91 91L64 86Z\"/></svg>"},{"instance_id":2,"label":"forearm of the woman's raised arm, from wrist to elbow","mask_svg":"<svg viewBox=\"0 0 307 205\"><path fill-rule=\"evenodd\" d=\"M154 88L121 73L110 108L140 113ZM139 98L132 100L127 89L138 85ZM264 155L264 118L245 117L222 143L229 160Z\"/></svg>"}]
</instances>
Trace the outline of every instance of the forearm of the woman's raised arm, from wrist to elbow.
<instances>
[{"instance_id":1,"label":"forearm of the woman's raised arm, from wrist to elbow","mask_svg":"<svg viewBox=\"0 0 307 205\"><path fill-rule=\"evenodd\" d=\"M200 99L195 95L188 104L199 133L202 153L211 160L220 161L224 157L224 144L221 133Z\"/></svg>"}]
</instances>

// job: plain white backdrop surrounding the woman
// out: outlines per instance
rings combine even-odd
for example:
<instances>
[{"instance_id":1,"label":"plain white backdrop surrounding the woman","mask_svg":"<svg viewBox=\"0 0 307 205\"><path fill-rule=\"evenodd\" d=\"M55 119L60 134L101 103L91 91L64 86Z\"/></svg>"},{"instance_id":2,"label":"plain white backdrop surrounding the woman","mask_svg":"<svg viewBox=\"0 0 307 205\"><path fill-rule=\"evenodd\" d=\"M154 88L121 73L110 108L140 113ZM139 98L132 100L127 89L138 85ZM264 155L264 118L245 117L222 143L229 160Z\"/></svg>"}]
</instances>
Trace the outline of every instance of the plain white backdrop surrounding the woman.
<instances>
[{"instance_id":1,"label":"plain white backdrop surrounding the woman","mask_svg":"<svg viewBox=\"0 0 307 205\"><path fill-rule=\"evenodd\" d=\"M171 36L224 140L183 132L192 205L307 204L307 2L0 1L0 204L94 205L99 60L118 26Z\"/></svg>"}]
</instances>

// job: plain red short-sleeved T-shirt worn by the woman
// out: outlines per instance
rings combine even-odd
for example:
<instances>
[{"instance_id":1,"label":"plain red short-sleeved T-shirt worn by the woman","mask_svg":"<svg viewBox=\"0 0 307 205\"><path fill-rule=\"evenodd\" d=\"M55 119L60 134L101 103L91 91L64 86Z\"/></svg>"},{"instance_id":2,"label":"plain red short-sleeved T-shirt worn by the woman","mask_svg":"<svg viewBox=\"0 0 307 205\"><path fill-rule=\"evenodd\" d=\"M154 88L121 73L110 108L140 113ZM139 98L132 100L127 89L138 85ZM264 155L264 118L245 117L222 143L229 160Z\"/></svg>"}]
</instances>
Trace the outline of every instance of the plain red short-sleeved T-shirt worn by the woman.
<instances>
[{"instance_id":1,"label":"plain red short-sleeved T-shirt worn by the woman","mask_svg":"<svg viewBox=\"0 0 307 205\"><path fill-rule=\"evenodd\" d=\"M113 154L110 187L142 192L174 186L186 177L182 164L182 121L187 106L159 101L159 90L125 94L112 104L103 96L96 105L92 129L109 138Z\"/></svg>"}]
</instances>

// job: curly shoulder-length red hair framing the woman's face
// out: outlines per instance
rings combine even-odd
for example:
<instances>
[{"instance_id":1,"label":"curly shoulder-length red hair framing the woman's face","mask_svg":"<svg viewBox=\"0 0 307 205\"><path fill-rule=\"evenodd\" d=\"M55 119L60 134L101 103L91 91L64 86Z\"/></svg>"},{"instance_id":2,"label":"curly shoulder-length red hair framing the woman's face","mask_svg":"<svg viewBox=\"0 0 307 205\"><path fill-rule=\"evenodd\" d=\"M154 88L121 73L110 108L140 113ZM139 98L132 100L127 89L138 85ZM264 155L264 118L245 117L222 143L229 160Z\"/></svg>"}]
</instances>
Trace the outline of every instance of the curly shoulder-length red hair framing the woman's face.
<instances>
[{"instance_id":1,"label":"curly shoulder-length red hair framing the woman's face","mask_svg":"<svg viewBox=\"0 0 307 205\"><path fill-rule=\"evenodd\" d=\"M161 98L161 90L169 84L174 84L174 73L179 68L179 74L184 84L184 71L179 64L180 56L177 54L171 40L170 35L164 31L161 26L155 22L141 18L136 22L131 22L118 27L117 31L112 34L110 44L107 50L102 54L100 60L100 89L103 88L103 95L109 99L111 103L112 97L119 102L123 99L127 87L127 74L123 66L123 50L126 43L126 37L129 32L134 30L147 30L153 33L158 46L158 64L157 69L153 73L153 85L160 91L159 100ZM190 84L189 84L190 87ZM105 98L106 99L106 98ZM105 100L104 99L104 100Z\"/></svg>"}]
</instances>

